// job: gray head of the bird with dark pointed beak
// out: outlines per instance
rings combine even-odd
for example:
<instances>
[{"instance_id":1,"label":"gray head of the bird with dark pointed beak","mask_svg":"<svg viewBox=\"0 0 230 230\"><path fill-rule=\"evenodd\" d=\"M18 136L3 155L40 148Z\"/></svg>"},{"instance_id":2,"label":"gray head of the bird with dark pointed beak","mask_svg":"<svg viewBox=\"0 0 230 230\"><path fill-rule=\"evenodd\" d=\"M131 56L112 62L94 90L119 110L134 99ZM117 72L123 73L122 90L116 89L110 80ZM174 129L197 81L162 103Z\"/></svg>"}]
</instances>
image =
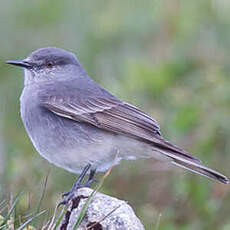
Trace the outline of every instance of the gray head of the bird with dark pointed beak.
<instances>
[{"instance_id":1,"label":"gray head of the bird with dark pointed beak","mask_svg":"<svg viewBox=\"0 0 230 230\"><path fill-rule=\"evenodd\" d=\"M83 72L73 53L56 47L41 48L23 60L9 60L6 63L25 69L25 85L49 80L65 80Z\"/></svg>"}]
</instances>

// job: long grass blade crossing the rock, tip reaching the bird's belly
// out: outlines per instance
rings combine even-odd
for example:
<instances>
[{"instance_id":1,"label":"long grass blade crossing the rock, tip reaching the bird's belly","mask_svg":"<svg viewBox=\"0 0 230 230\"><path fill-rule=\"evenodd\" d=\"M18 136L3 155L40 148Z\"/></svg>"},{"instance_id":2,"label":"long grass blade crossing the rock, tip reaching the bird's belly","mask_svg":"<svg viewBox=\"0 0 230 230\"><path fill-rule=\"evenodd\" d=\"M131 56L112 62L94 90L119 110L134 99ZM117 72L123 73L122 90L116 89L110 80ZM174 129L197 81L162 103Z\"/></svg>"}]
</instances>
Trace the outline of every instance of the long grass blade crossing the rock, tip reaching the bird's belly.
<instances>
[{"instance_id":1,"label":"long grass blade crossing the rock, tip reaching the bird's belly","mask_svg":"<svg viewBox=\"0 0 230 230\"><path fill-rule=\"evenodd\" d=\"M115 161L114 161L115 162ZM86 211L89 207L90 202L92 201L92 199L94 198L94 196L96 195L96 193L98 192L98 190L102 187L102 185L104 184L105 179L109 176L112 168L113 168L114 164L107 170L107 172L104 174L104 176L102 177L102 179L100 180L99 184L96 186L96 188L93 190L93 192L90 194L90 196L88 197L87 201L85 202L85 204L82 207L82 210L80 212L80 215L73 227L74 230L77 230L77 228L80 226Z\"/></svg>"}]
</instances>

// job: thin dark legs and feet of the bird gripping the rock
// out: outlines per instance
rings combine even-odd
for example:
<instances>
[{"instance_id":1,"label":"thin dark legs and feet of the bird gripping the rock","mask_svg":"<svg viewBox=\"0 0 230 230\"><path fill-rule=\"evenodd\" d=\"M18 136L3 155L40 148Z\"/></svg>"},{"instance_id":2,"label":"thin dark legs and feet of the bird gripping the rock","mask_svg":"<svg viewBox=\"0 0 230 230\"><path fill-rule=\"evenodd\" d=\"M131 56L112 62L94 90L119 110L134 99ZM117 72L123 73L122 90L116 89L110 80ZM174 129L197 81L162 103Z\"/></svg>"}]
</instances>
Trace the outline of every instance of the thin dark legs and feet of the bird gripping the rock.
<instances>
[{"instance_id":1,"label":"thin dark legs and feet of the bird gripping the rock","mask_svg":"<svg viewBox=\"0 0 230 230\"><path fill-rule=\"evenodd\" d=\"M64 194L62 195L62 196L65 197L65 198L64 198L64 200L63 200L61 203L59 203L59 205L67 204L68 201L71 200L71 198L74 196L74 192L75 192L78 188L87 187L87 186L84 185L84 184L81 185L81 182L82 182L82 180L84 179L86 173L89 171L90 167L91 167L90 164L87 164L87 165L85 166L85 168L82 170L80 176L77 178L76 182L73 184L73 187L70 189L70 191L68 191L68 192L66 192L66 193L64 193ZM90 171L90 175L92 174L92 173L91 173L92 171L94 171L94 173L95 173L95 170L91 170L91 171ZM93 175L94 175L94 173L93 173ZM93 177L93 175L91 175L91 176L90 176L90 175L89 175L89 178ZM89 181L89 178L88 178L87 182ZM93 180L93 179L91 179L91 180ZM86 182L86 184L87 184L87 182ZM89 185L90 185L91 183L92 183L92 182L90 182Z\"/></svg>"}]
</instances>

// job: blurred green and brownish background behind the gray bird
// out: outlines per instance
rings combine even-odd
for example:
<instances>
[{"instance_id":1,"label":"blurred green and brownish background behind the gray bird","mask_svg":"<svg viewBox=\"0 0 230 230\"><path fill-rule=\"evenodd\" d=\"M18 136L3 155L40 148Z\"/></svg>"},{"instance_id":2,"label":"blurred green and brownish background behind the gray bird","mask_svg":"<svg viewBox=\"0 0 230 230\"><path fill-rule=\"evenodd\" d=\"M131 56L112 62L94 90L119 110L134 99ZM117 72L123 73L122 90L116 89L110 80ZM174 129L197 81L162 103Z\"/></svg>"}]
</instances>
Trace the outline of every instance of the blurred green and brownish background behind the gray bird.
<instances>
[{"instance_id":1,"label":"blurred green and brownish background behind the gray bird","mask_svg":"<svg viewBox=\"0 0 230 230\"><path fill-rule=\"evenodd\" d=\"M1 199L24 191L19 211L28 213L49 174L48 218L76 178L34 150L19 113L23 72L4 64L45 46L73 51L94 80L152 115L164 137L230 176L229 11L229 0L2 1ZM160 216L161 230L230 229L229 186L154 160L122 161L103 192L127 200L148 230Z\"/></svg>"}]
</instances>

